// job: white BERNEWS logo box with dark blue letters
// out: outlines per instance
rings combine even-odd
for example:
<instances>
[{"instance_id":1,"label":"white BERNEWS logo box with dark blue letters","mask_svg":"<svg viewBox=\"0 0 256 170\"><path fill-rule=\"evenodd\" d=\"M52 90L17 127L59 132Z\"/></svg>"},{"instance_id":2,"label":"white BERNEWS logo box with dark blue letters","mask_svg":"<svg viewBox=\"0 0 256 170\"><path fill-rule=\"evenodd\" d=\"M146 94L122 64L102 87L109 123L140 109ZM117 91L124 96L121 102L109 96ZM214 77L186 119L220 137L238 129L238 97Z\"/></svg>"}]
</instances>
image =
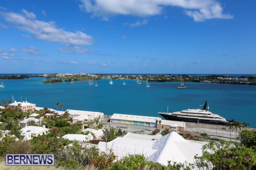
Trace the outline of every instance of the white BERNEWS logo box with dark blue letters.
<instances>
[{"instance_id":1,"label":"white BERNEWS logo box with dark blue letters","mask_svg":"<svg viewBox=\"0 0 256 170\"><path fill-rule=\"evenodd\" d=\"M54 154L6 154L6 166L54 166Z\"/></svg>"}]
</instances>

